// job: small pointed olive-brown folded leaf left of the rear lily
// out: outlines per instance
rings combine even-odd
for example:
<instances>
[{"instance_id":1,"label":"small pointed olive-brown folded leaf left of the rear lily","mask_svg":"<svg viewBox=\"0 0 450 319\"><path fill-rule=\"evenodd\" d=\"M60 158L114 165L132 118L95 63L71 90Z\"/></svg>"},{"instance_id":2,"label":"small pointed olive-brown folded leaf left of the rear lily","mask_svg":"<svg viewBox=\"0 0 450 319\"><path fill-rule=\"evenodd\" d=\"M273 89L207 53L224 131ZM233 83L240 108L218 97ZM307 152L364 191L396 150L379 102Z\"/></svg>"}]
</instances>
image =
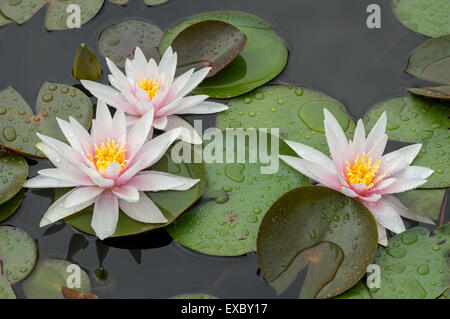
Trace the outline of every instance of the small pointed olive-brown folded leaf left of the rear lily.
<instances>
[{"instance_id":1,"label":"small pointed olive-brown folded leaf left of the rear lily","mask_svg":"<svg viewBox=\"0 0 450 319\"><path fill-rule=\"evenodd\" d=\"M97 81L101 75L102 69L97 57L85 43L82 43L73 65L73 76L77 80Z\"/></svg>"}]
</instances>

